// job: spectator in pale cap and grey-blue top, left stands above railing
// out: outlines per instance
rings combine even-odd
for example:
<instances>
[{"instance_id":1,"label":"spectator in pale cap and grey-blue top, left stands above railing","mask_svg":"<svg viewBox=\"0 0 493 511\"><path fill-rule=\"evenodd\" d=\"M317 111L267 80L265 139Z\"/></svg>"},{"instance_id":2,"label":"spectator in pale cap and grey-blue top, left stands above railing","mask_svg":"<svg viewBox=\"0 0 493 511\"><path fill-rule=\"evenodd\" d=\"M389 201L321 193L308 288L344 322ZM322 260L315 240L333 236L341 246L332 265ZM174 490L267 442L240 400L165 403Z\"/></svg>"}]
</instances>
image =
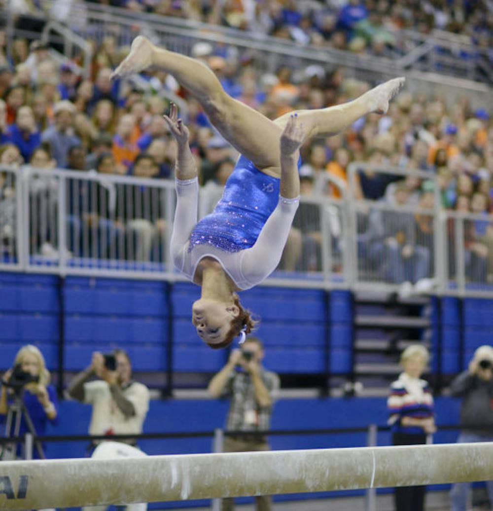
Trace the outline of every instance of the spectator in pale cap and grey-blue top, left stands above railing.
<instances>
[{"instance_id":1,"label":"spectator in pale cap and grey-blue top, left stands above railing","mask_svg":"<svg viewBox=\"0 0 493 511\"><path fill-rule=\"evenodd\" d=\"M50 144L57 167L65 169L69 149L81 143L74 130L75 106L62 100L55 104L53 112L55 124L43 131L41 140Z\"/></svg>"}]
</instances>

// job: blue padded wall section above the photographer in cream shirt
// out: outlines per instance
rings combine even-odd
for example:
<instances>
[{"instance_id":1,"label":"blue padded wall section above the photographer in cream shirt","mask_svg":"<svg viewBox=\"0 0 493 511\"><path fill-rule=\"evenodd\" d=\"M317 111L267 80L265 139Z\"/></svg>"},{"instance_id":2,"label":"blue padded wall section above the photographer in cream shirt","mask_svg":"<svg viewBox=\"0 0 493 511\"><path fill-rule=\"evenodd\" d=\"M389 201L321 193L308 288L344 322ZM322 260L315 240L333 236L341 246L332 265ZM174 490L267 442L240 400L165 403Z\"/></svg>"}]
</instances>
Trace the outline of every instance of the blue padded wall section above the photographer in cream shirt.
<instances>
[{"instance_id":1,"label":"blue padded wall section above the photographer in cream shirt","mask_svg":"<svg viewBox=\"0 0 493 511\"><path fill-rule=\"evenodd\" d=\"M167 284L108 278L68 277L65 307L65 368L86 367L95 350L128 351L134 370L167 367Z\"/></svg>"}]
</instances>

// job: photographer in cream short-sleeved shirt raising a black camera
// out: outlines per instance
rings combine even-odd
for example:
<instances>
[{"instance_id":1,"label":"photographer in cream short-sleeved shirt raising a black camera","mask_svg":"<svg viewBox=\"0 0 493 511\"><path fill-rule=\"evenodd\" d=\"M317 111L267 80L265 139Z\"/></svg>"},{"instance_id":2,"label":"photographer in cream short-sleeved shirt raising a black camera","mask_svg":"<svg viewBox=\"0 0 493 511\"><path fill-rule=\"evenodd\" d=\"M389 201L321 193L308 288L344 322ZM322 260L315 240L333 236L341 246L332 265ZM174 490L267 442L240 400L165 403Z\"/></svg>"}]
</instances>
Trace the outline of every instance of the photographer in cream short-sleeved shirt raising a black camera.
<instances>
[{"instance_id":1,"label":"photographer in cream short-sleeved shirt raising a black camera","mask_svg":"<svg viewBox=\"0 0 493 511\"><path fill-rule=\"evenodd\" d=\"M89 381L93 377L99 380ZM68 387L70 397L92 405L90 435L140 434L149 409L149 389L132 380L124 350L92 354L92 362ZM135 440L122 440L135 445Z\"/></svg>"}]
</instances>

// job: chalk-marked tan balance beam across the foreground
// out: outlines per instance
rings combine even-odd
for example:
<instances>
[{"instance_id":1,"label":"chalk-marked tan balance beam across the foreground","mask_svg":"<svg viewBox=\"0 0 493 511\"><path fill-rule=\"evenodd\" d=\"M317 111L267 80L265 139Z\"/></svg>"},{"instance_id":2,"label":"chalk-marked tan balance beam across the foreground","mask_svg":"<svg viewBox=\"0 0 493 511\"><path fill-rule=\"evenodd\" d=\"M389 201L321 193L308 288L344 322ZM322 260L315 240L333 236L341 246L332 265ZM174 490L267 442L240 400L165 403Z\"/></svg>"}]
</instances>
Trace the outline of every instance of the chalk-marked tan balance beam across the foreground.
<instances>
[{"instance_id":1,"label":"chalk-marked tan balance beam across the foreground","mask_svg":"<svg viewBox=\"0 0 493 511\"><path fill-rule=\"evenodd\" d=\"M0 462L0 509L493 479L493 443Z\"/></svg>"}]
</instances>

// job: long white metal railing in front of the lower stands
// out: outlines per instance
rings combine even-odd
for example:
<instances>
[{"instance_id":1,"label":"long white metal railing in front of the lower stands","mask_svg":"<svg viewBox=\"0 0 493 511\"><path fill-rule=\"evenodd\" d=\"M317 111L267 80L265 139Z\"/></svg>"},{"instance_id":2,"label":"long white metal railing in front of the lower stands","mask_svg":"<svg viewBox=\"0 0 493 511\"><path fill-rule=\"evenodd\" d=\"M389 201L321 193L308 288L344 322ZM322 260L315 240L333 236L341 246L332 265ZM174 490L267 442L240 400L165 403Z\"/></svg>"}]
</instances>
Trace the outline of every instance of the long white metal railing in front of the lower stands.
<instances>
[{"instance_id":1,"label":"long white metal railing in front of the lower stands","mask_svg":"<svg viewBox=\"0 0 493 511\"><path fill-rule=\"evenodd\" d=\"M363 172L428 180L432 200L394 203L398 184L387 200L358 200ZM220 194L201 190L201 216ZM182 280L170 260L174 207L168 180L2 167L0 269ZM406 281L438 294L493 296L493 218L442 210L432 173L355 162L342 198L302 195L266 284L397 291Z\"/></svg>"}]
</instances>

